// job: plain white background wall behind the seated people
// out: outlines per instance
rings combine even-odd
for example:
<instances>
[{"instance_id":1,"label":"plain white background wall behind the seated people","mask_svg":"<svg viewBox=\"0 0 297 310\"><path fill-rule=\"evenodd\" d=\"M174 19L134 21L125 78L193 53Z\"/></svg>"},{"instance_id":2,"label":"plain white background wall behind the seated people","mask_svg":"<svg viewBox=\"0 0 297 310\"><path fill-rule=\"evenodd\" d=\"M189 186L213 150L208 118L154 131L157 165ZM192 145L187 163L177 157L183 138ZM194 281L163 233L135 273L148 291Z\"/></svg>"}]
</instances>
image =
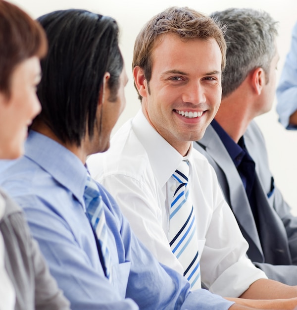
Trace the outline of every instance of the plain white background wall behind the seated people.
<instances>
[{"instance_id":1,"label":"plain white background wall behind the seated people","mask_svg":"<svg viewBox=\"0 0 297 310\"><path fill-rule=\"evenodd\" d=\"M129 83L126 87L127 105L117 122L118 128L126 119L134 116L140 107L132 79L132 52L135 38L141 27L154 14L168 6L189 6L198 11L209 14L228 7L250 7L266 10L279 21L278 49L280 61L278 78L291 44L291 32L297 21L297 0L13 0L11 1L32 17L48 13L57 9L83 8L109 15L115 18L120 26L120 46L126 63ZM270 167L274 174L276 185L297 215L297 131L285 130L277 121L275 111L276 101L272 110L256 118L266 138Z\"/></svg>"}]
</instances>

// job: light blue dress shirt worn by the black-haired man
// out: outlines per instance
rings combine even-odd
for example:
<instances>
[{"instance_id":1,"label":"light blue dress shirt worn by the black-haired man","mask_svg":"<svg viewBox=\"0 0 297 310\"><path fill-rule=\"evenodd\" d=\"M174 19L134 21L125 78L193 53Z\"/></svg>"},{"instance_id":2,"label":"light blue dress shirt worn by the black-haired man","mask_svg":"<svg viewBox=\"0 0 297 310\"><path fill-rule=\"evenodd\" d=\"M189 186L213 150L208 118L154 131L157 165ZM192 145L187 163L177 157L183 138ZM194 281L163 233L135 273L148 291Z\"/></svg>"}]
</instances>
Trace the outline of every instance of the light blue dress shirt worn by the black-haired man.
<instances>
[{"instance_id":1,"label":"light blue dress shirt worn by the black-haired man","mask_svg":"<svg viewBox=\"0 0 297 310\"><path fill-rule=\"evenodd\" d=\"M233 303L190 285L161 266L135 237L108 192L105 203L112 282L105 276L83 200L87 170L80 159L31 131L25 156L2 171L2 187L23 207L33 236L72 310L225 310Z\"/></svg>"}]
</instances>

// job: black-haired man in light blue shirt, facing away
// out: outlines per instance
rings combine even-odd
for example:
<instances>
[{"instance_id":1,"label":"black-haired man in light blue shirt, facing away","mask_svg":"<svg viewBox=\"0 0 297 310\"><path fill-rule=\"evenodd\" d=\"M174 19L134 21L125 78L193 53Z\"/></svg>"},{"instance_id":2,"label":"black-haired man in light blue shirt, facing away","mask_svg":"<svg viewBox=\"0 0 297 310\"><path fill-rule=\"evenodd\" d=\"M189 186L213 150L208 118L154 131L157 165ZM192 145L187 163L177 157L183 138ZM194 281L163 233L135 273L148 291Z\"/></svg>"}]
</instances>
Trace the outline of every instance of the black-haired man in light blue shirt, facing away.
<instances>
[{"instance_id":1,"label":"black-haired man in light blue shirt, facing away","mask_svg":"<svg viewBox=\"0 0 297 310\"><path fill-rule=\"evenodd\" d=\"M97 183L111 260L107 276L106 249L86 215L84 193L87 156L108 149L125 105L118 26L110 17L75 9L51 12L39 21L49 40L38 86L42 112L33 121L24 157L2 173L1 183L23 207L71 309L260 309L207 290L190 291L182 275L153 258ZM250 304L279 309L277 301ZM283 309L296 304L296 299L281 303Z\"/></svg>"}]
</instances>

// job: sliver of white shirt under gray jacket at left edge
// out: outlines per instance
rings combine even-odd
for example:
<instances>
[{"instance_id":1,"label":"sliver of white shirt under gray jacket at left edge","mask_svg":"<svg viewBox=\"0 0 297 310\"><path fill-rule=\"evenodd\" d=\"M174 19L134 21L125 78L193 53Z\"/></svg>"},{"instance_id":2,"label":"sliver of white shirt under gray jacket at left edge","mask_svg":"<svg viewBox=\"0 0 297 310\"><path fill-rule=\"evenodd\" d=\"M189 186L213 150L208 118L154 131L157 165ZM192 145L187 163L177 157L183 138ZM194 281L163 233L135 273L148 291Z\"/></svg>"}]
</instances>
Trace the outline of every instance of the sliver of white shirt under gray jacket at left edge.
<instances>
[{"instance_id":1,"label":"sliver of white shirt under gray jacket at left edge","mask_svg":"<svg viewBox=\"0 0 297 310\"><path fill-rule=\"evenodd\" d=\"M5 210L5 202L0 195L0 220ZM15 304L15 291L4 266L4 242L0 232L0 310L13 310Z\"/></svg>"}]
</instances>

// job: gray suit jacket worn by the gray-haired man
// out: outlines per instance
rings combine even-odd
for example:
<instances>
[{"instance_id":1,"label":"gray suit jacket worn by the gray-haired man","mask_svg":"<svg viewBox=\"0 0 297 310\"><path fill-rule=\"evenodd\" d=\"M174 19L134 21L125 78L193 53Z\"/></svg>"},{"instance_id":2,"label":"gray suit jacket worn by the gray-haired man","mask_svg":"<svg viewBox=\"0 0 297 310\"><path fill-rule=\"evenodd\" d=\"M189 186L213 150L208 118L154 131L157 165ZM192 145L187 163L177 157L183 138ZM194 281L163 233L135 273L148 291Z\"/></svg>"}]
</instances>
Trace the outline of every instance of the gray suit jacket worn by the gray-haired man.
<instances>
[{"instance_id":1,"label":"gray suit jacket worn by the gray-haired man","mask_svg":"<svg viewBox=\"0 0 297 310\"><path fill-rule=\"evenodd\" d=\"M244 138L248 153L256 165L259 234L240 175L211 125L203 138L194 143L194 147L205 155L217 174L225 199L249 244L248 257L270 279L297 285L297 217L290 213L290 207L280 191L276 187L271 188L273 177L268 166L265 141L254 121L248 126Z\"/></svg>"}]
</instances>

